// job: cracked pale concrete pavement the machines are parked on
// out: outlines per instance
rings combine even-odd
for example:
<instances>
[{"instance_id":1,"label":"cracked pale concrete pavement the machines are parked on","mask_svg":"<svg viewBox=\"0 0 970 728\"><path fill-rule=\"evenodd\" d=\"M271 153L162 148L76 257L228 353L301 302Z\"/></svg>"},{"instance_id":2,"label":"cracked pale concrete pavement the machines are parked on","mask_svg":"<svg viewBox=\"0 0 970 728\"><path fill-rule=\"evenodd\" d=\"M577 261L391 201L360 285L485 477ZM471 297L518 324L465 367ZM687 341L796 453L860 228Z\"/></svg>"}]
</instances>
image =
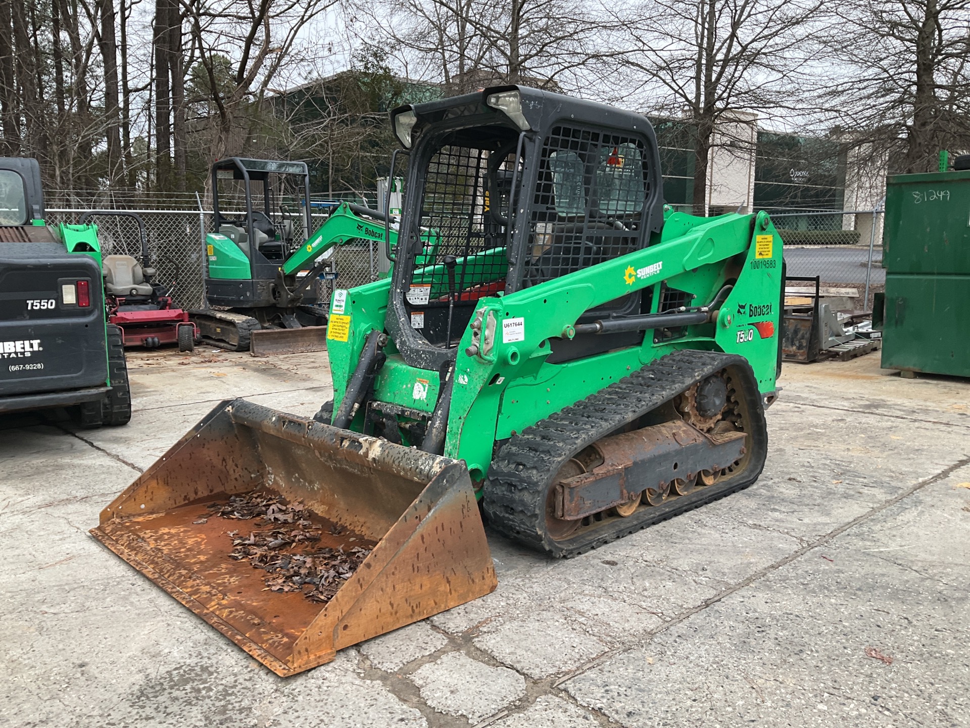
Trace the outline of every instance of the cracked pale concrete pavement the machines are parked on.
<instances>
[{"instance_id":1,"label":"cracked pale concrete pavement the machines are parked on","mask_svg":"<svg viewBox=\"0 0 970 728\"><path fill-rule=\"evenodd\" d=\"M219 400L325 354L131 357L127 427L0 421L0 726L970 725L970 382L787 366L752 488L277 678L87 535ZM21 425L23 423L21 422Z\"/></svg>"}]
</instances>

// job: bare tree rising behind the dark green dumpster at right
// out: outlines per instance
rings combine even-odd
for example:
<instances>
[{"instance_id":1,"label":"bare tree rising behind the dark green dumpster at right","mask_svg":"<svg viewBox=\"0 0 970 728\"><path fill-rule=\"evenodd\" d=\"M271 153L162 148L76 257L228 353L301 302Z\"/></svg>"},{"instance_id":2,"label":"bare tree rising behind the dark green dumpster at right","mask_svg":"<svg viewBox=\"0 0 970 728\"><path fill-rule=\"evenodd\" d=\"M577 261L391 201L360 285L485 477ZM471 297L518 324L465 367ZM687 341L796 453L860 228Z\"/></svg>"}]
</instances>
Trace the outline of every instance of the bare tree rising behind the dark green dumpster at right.
<instances>
[{"instance_id":1,"label":"bare tree rising behind the dark green dumpster at right","mask_svg":"<svg viewBox=\"0 0 970 728\"><path fill-rule=\"evenodd\" d=\"M820 125L861 153L928 172L939 150L970 149L968 0L840 3L820 50L837 59L817 88Z\"/></svg>"}]
</instances>

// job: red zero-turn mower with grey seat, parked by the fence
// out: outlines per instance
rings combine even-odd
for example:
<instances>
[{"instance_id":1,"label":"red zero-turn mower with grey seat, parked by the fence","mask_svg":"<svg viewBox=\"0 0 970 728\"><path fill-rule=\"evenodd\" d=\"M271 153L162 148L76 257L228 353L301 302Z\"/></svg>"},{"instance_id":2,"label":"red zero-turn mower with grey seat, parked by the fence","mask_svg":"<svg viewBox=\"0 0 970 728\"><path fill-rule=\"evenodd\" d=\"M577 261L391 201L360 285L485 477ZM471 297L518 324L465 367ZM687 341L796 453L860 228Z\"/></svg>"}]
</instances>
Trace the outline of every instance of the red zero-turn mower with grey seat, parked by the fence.
<instances>
[{"instance_id":1,"label":"red zero-turn mower with grey seat, parked by the fence","mask_svg":"<svg viewBox=\"0 0 970 728\"><path fill-rule=\"evenodd\" d=\"M108 320L121 328L124 346L178 344L179 351L191 351L200 338L199 327L188 319L188 312L172 307L167 286L151 280L155 269L148 256L145 221L135 213L91 210L81 215L79 222L93 215L134 217L138 222L142 261L131 255L106 255L101 261Z\"/></svg>"}]
</instances>

